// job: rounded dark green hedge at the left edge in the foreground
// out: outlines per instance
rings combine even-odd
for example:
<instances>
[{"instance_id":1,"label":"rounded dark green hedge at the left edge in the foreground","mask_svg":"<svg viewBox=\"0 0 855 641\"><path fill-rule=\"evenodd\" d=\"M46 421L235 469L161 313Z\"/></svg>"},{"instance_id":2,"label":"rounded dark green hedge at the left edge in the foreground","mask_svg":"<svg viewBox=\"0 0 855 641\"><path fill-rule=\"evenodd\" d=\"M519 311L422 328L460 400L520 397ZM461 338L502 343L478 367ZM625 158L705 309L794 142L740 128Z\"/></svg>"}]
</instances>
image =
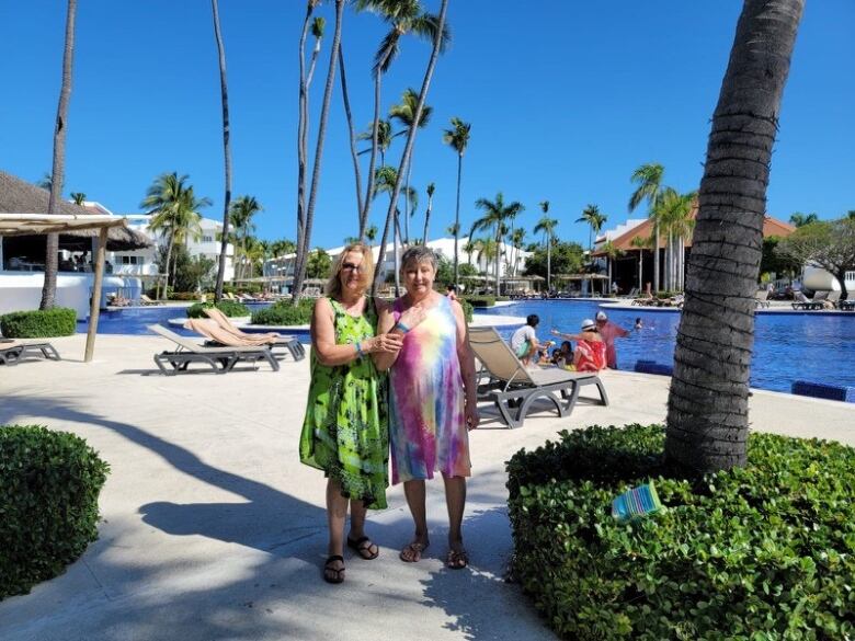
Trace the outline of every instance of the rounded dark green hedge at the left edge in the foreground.
<instances>
[{"instance_id":1,"label":"rounded dark green hedge at the left edge in the foreground","mask_svg":"<svg viewBox=\"0 0 855 641\"><path fill-rule=\"evenodd\" d=\"M109 471L73 434L0 426L0 599L62 573L98 538Z\"/></svg>"}]
</instances>

